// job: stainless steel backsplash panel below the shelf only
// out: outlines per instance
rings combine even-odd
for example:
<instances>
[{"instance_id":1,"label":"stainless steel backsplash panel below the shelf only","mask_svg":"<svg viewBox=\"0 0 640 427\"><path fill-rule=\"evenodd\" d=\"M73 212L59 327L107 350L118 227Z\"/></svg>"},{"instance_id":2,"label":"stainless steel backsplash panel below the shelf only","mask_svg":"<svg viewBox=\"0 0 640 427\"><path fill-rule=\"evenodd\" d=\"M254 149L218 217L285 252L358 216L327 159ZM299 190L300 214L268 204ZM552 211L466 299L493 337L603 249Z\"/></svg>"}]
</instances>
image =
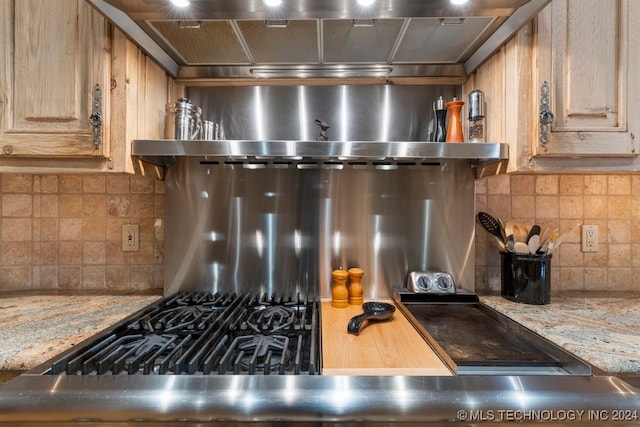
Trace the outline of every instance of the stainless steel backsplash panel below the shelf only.
<instances>
[{"instance_id":1,"label":"stainless steel backsplash panel below the shelf only","mask_svg":"<svg viewBox=\"0 0 640 427\"><path fill-rule=\"evenodd\" d=\"M474 288L468 161L383 170L201 160L176 158L168 169L167 294L328 297L340 266L365 270L368 298L390 297L412 270L448 271Z\"/></svg>"}]
</instances>

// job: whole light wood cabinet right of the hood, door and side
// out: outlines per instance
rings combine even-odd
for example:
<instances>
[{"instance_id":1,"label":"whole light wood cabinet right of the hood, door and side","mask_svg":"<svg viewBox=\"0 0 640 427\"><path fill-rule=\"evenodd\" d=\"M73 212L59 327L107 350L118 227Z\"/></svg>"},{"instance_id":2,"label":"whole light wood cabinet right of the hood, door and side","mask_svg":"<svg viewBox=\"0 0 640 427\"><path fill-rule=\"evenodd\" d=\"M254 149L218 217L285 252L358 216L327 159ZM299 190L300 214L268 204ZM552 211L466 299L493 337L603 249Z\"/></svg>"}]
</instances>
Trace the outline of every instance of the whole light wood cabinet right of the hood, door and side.
<instances>
[{"instance_id":1,"label":"whole light wood cabinet right of the hood, door and side","mask_svg":"<svg viewBox=\"0 0 640 427\"><path fill-rule=\"evenodd\" d=\"M554 0L470 76L509 171L637 169L638 24L633 0Z\"/></svg>"}]
</instances>

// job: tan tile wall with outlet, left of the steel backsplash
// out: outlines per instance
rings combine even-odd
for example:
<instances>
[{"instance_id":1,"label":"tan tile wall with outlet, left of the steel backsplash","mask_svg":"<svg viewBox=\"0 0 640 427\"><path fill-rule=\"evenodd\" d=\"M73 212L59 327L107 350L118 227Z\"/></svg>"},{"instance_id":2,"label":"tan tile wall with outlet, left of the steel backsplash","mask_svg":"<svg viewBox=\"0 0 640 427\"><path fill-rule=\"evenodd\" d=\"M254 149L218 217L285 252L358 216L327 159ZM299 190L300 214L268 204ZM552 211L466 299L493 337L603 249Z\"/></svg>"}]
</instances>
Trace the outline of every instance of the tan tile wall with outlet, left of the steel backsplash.
<instances>
[{"instance_id":1,"label":"tan tile wall with outlet, left of the steel backsplash","mask_svg":"<svg viewBox=\"0 0 640 427\"><path fill-rule=\"evenodd\" d=\"M0 290L162 288L162 182L3 174L0 189ZM123 224L140 225L139 251L122 251Z\"/></svg>"}]
</instances>

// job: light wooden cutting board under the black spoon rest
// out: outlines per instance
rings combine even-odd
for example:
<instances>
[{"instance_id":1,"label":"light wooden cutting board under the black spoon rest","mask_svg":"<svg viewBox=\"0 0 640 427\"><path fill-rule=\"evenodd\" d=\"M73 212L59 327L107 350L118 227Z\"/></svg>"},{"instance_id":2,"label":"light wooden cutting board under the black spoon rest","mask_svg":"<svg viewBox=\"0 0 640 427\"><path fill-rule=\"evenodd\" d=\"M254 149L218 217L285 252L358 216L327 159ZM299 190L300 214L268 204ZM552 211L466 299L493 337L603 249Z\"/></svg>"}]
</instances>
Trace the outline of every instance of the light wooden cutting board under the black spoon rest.
<instances>
[{"instance_id":1,"label":"light wooden cutting board under the black spoon rest","mask_svg":"<svg viewBox=\"0 0 640 427\"><path fill-rule=\"evenodd\" d=\"M335 308L330 300L321 302L323 375L453 375L400 310L351 335L347 324L359 314L360 305Z\"/></svg>"}]
</instances>

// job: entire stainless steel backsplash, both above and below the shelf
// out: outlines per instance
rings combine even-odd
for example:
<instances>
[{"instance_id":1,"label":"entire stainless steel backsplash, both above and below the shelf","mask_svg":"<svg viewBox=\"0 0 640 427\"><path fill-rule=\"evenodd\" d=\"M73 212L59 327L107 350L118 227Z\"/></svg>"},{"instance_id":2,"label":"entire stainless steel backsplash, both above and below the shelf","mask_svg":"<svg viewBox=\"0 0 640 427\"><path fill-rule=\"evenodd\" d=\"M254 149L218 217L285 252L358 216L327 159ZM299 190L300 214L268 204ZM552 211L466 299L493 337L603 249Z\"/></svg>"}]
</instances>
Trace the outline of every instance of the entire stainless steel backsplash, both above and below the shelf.
<instances>
[{"instance_id":1,"label":"entire stainless steel backsplash, both above and below the shelf","mask_svg":"<svg viewBox=\"0 0 640 427\"><path fill-rule=\"evenodd\" d=\"M301 90L304 107L295 96ZM341 98L341 91L353 96ZM431 102L441 93L263 87L191 89L189 96L205 118L224 124L229 139L313 140L317 117L331 124L330 140L392 141L425 140ZM352 101L342 106L341 99ZM389 297L414 270L446 271L458 287L474 290L468 161L227 160L178 157L168 168L165 293L330 297L331 271L339 267L364 269L365 298Z\"/></svg>"}]
</instances>

